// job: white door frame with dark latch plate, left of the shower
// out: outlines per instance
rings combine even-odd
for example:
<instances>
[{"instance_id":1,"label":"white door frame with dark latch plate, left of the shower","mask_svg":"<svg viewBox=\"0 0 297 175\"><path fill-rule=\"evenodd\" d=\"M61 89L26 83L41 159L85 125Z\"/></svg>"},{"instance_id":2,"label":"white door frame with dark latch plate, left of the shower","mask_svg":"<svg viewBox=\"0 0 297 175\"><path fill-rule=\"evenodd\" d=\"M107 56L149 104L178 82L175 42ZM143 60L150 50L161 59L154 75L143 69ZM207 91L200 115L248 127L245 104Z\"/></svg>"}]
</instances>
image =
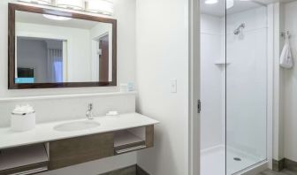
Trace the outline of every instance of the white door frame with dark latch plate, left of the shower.
<instances>
[{"instance_id":1,"label":"white door frame with dark latch plate, left of the shower","mask_svg":"<svg viewBox=\"0 0 297 175\"><path fill-rule=\"evenodd\" d=\"M200 175L200 0L188 2L189 42L189 175Z\"/></svg>"}]
</instances>

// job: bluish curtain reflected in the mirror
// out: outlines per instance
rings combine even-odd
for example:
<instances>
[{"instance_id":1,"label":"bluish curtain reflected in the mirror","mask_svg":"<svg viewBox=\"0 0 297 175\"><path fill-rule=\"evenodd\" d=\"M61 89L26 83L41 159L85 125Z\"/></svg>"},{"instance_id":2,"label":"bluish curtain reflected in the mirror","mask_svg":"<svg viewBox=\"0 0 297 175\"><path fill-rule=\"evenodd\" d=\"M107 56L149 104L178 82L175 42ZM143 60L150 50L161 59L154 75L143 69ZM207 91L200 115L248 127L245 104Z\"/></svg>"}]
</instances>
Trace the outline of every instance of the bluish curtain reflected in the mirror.
<instances>
[{"instance_id":1,"label":"bluish curtain reflected in the mirror","mask_svg":"<svg viewBox=\"0 0 297 175\"><path fill-rule=\"evenodd\" d=\"M62 49L48 49L48 80L52 83L63 82Z\"/></svg>"}]
</instances>

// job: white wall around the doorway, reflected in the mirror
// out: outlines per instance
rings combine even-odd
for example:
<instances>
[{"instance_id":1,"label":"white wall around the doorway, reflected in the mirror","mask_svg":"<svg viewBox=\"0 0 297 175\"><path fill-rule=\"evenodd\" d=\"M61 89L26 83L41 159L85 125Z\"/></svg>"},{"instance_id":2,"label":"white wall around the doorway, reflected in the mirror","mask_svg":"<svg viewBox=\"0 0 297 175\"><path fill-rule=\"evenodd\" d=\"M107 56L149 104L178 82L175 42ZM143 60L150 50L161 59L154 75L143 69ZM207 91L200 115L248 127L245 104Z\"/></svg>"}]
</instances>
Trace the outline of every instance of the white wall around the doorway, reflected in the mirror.
<instances>
[{"instance_id":1,"label":"white wall around the doorway, reflected in the mirror","mask_svg":"<svg viewBox=\"0 0 297 175\"><path fill-rule=\"evenodd\" d=\"M16 23L16 34L67 41L67 82L91 81L91 42L88 29Z\"/></svg>"}]
</instances>

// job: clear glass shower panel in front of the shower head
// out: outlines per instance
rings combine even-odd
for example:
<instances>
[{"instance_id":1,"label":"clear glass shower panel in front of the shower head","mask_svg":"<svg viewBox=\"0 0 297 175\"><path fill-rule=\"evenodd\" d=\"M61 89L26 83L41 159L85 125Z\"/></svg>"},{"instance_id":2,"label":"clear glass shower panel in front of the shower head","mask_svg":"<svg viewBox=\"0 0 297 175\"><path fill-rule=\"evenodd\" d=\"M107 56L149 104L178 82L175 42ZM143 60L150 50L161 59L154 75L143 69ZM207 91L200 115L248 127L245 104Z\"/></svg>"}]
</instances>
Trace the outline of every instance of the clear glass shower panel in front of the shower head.
<instances>
[{"instance_id":1,"label":"clear glass shower panel in front of the shower head","mask_svg":"<svg viewBox=\"0 0 297 175\"><path fill-rule=\"evenodd\" d=\"M225 19L226 174L266 160L267 8L227 0Z\"/></svg>"}]
</instances>

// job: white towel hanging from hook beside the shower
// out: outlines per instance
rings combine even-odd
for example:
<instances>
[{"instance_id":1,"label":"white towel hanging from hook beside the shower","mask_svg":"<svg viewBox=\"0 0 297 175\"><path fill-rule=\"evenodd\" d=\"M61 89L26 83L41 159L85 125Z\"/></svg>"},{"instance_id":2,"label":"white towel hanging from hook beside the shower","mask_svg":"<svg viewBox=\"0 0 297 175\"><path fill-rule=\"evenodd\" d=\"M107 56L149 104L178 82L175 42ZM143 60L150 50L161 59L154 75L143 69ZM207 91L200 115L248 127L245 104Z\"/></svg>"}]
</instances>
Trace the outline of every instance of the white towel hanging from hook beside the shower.
<instances>
[{"instance_id":1,"label":"white towel hanging from hook beside the shower","mask_svg":"<svg viewBox=\"0 0 297 175\"><path fill-rule=\"evenodd\" d=\"M293 57L292 57L291 46L289 42L289 34L286 34L285 46L280 55L280 66L286 69L290 69L293 67Z\"/></svg>"}]
</instances>

